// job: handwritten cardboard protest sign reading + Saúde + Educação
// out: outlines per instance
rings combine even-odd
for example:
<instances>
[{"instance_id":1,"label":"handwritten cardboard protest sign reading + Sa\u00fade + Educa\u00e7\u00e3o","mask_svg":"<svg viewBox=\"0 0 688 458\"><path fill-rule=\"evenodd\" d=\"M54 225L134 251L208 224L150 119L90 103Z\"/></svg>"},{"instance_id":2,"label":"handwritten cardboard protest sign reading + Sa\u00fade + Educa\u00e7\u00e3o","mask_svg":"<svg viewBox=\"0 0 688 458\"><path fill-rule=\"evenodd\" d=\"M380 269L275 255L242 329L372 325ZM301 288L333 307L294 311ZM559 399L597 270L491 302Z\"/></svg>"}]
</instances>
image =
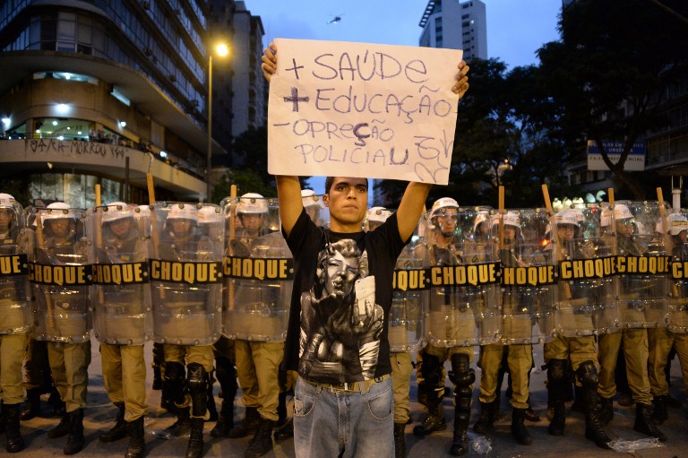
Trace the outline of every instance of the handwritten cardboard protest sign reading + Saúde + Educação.
<instances>
[{"instance_id":1,"label":"handwritten cardboard protest sign reading + Sa\u00fade + Educa\u00e7\u00e3o","mask_svg":"<svg viewBox=\"0 0 688 458\"><path fill-rule=\"evenodd\" d=\"M273 175L446 185L463 55L455 49L276 39L268 110Z\"/></svg>"}]
</instances>

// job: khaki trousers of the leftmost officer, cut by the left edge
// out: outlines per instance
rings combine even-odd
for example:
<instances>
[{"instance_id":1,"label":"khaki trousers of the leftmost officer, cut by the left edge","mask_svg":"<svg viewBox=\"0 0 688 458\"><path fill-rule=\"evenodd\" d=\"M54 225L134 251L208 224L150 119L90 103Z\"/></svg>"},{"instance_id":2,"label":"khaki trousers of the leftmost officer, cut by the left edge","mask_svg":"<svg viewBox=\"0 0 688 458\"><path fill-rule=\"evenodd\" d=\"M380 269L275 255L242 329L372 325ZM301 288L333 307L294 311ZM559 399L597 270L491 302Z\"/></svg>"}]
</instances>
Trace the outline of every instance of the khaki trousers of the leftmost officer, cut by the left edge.
<instances>
[{"instance_id":1,"label":"khaki trousers of the leftmost officer, cut by the left edge","mask_svg":"<svg viewBox=\"0 0 688 458\"><path fill-rule=\"evenodd\" d=\"M28 341L27 334L0 335L0 396L5 404L24 401L22 362Z\"/></svg>"}]
</instances>

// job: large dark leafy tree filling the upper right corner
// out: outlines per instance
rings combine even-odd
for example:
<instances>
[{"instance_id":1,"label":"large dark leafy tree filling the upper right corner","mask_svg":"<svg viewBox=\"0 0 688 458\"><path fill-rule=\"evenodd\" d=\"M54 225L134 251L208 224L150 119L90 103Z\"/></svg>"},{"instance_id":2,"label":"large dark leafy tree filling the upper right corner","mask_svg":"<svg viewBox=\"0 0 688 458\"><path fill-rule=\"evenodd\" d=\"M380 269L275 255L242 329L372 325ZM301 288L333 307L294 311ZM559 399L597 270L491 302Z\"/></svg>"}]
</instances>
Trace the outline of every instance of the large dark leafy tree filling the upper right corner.
<instances>
[{"instance_id":1,"label":"large dark leafy tree filling the upper right corner","mask_svg":"<svg viewBox=\"0 0 688 458\"><path fill-rule=\"evenodd\" d=\"M634 198L646 189L625 169L633 143L668 120L667 90L688 77L688 4L663 0L578 0L563 8L561 39L538 50L542 84L553 101L552 132L571 152L597 143L606 166ZM683 20L682 20L683 19ZM623 141L616 164L602 141Z\"/></svg>"}]
</instances>

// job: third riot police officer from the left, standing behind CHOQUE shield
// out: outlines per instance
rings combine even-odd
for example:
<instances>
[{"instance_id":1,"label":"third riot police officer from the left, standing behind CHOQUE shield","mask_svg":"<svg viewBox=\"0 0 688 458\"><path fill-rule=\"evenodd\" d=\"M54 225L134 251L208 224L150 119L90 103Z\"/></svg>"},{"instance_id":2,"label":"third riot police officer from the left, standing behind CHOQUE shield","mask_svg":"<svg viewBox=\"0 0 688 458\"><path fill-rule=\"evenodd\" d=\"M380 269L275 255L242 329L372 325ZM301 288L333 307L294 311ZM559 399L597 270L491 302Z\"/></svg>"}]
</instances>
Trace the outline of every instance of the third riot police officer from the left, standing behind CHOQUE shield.
<instances>
[{"instance_id":1,"label":"third riot police officer from the left, standing behind CHOQUE shield","mask_svg":"<svg viewBox=\"0 0 688 458\"><path fill-rule=\"evenodd\" d=\"M139 458L145 452L143 419L148 413L143 342L150 338L151 330L144 289L148 276L142 274L148 270L148 253L139 230L145 224L137 224L137 211L116 202L95 209L90 216L96 234L94 277L99 279L94 281L94 329L100 341L107 396L117 407L115 426L101 433L99 440L114 442L129 436L126 458ZM116 272L128 268L141 274L119 275L115 281Z\"/></svg>"}]
</instances>

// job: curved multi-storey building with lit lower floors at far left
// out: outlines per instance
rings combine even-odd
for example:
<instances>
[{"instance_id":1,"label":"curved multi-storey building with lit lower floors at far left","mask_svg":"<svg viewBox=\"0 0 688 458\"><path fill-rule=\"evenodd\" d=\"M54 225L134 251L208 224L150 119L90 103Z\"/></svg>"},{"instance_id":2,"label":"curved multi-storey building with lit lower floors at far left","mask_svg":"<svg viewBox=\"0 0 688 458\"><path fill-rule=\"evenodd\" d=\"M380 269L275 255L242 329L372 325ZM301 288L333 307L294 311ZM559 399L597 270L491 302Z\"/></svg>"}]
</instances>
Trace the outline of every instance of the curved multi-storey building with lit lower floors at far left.
<instances>
[{"instance_id":1,"label":"curved multi-storey building with lit lower floors at far left","mask_svg":"<svg viewBox=\"0 0 688 458\"><path fill-rule=\"evenodd\" d=\"M202 0L0 0L0 179L73 207L206 194ZM225 153L212 143L213 155Z\"/></svg>"}]
</instances>

